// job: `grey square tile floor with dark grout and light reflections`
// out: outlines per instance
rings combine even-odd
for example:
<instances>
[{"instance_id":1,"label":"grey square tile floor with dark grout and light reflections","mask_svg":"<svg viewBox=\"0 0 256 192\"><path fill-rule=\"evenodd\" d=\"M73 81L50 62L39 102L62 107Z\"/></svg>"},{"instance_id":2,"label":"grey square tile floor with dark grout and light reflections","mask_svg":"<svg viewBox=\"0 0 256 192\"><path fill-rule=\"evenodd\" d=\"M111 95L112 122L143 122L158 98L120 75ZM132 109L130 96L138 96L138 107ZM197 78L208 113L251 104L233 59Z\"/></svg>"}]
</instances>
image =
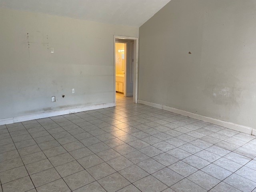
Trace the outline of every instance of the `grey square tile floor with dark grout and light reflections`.
<instances>
[{"instance_id":1,"label":"grey square tile floor with dark grout and light reflections","mask_svg":"<svg viewBox=\"0 0 256 192\"><path fill-rule=\"evenodd\" d=\"M256 192L256 137L116 103L0 126L0 192Z\"/></svg>"}]
</instances>

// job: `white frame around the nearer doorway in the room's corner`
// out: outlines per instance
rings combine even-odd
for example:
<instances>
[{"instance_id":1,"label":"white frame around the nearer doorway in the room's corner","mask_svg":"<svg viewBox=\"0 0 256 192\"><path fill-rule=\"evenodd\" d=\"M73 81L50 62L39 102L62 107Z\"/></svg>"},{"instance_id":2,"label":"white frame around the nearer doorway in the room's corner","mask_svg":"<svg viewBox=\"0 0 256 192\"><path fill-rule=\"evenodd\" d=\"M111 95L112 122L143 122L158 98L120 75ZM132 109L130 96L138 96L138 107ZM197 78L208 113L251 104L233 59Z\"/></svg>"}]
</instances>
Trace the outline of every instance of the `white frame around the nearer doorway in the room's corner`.
<instances>
[{"instance_id":1,"label":"white frame around the nearer doorway in the room's corner","mask_svg":"<svg viewBox=\"0 0 256 192\"><path fill-rule=\"evenodd\" d=\"M133 76L133 102L138 102L138 57L139 57L139 38L138 37L128 37L128 36L118 36L114 35L114 103L116 106L116 38L119 39L130 39L134 40L134 76Z\"/></svg>"}]
</instances>

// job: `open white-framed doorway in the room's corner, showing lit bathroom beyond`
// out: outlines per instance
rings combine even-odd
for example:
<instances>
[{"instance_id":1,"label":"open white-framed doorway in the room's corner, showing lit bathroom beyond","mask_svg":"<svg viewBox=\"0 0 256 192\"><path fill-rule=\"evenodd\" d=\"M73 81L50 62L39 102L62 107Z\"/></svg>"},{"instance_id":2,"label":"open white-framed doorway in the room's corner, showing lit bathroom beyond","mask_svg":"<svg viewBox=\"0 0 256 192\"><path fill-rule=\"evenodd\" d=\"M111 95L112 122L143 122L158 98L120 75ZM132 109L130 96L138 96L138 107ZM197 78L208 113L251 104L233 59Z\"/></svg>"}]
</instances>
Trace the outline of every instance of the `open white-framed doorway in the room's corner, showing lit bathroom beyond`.
<instances>
[{"instance_id":1,"label":"open white-framed doorway in the room's corner, showing lit bathroom beyond","mask_svg":"<svg viewBox=\"0 0 256 192\"><path fill-rule=\"evenodd\" d=\"M114 36L114 103L116 93L138 100L138 38Z\"/></svg>"}]
</instances>

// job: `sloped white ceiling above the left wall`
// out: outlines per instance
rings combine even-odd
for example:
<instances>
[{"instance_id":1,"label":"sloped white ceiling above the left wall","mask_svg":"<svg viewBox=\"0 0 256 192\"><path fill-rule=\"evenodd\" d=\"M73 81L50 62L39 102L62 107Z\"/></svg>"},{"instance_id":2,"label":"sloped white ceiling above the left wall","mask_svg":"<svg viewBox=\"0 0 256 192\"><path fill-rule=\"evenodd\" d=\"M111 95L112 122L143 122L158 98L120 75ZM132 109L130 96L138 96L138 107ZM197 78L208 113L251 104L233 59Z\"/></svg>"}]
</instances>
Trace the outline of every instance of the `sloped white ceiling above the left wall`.
<instances>
[{"instance_id":1,"label":"sloped white ceiling above the left wall","mask_svg":"<svg viewBox=\"0 0 256 192\"><path fill-rule=\"evenodd\" d=\"M0 0L0 7L139 27L170 0Z\"/></svg>"}]
</instances>

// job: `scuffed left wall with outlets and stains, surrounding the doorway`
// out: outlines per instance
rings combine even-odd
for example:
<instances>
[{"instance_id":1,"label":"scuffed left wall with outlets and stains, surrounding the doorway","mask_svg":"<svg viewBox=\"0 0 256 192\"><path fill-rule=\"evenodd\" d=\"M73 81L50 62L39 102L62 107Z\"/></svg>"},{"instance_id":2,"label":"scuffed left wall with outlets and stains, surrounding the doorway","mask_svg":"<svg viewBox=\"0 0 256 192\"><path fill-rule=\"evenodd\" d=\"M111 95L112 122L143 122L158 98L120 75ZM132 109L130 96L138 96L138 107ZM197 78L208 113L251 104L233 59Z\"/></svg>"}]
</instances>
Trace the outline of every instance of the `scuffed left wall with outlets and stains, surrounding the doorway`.
<instances>
[{"instance_id":1,"label":"scuffed left wall with outlets and stains, surrounding the doorway","mask_svg":"<svg viewBox=\"0 0 256 192\"><path fill-rule=\"evenodd\" d=\"M0 120L114 102L113 36L138 37L134 27L8 9L0 26Z\"/></svg>"}]
</instances>

